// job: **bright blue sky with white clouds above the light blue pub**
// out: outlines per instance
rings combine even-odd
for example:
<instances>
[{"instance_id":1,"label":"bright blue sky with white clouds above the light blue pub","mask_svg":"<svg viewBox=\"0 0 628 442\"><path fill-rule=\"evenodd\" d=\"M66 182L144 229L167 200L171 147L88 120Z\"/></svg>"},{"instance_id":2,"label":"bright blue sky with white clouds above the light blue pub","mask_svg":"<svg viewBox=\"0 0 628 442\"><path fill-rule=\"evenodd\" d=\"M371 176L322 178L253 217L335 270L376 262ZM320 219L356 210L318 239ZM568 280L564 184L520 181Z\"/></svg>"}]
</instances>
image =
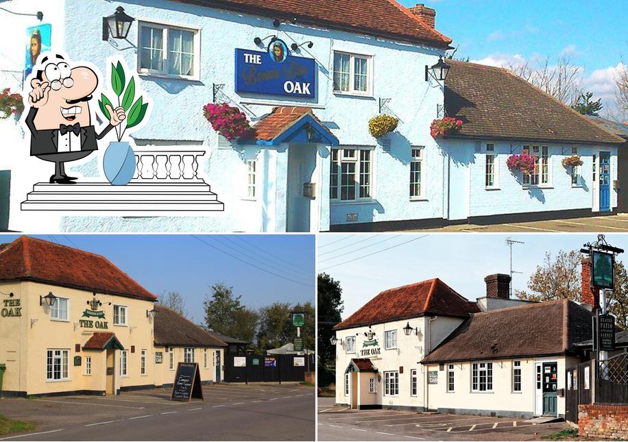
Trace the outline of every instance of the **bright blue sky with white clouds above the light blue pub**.
<instances>
[{"instance_id":1,"label":"bright blue sky with white clouds above the light blue pub","mask_svg":"<svg viewBox=\"0 0 628 442\"><path fill-rule=\"evenodd\" d=\"M404 6L420 3L401 0ZM486 64L561 54L584 69L583 86L611 101L612 68L628 63L628 1L426 0L457 56ZM611 103L609 103L610 106Z\"/></svg>"}]
</instances>

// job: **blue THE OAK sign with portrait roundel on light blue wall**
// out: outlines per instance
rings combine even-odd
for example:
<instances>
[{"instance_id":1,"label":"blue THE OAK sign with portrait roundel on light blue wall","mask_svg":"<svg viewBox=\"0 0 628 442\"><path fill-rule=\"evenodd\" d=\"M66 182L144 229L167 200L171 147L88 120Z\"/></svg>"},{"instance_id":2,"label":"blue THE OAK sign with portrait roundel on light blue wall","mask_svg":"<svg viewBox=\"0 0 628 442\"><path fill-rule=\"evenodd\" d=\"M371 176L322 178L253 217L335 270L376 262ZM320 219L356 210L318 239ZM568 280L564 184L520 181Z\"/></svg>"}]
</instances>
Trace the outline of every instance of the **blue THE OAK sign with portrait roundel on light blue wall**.
<instances>
[{"instance_id":1,"label":"blue THE OAK sign with portrait roundel on light blue wall","mask_svg":"<svg viewBox=\"0 0 628 442\"><path fill-rule=\"evenodd\" d=\"M236 49L235 57L237 93L315 97L315 60L292 56L282 40L274 40L263 52Z\"/></svg>"}]
</instances>

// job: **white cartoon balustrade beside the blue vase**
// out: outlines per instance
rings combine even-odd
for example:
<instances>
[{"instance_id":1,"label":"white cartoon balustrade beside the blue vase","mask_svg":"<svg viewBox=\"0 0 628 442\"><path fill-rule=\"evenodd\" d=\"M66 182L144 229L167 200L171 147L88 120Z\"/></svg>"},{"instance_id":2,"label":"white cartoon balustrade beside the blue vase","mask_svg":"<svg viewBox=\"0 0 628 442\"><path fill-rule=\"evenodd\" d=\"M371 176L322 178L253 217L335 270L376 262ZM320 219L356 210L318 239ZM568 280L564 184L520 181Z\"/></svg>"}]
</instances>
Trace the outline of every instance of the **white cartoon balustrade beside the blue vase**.
<instances>
[{"instance_id":1,"label":"white cartoon balustrade beside the blue vase","mask_svg":"<svg viewBox=\"0 0 628 442\"><path fill-rule=\"evenodd\" d=\"M174 150L171 146L136 147L134 182L146 181L202 181L197 176L202 150Z\"/></svg>"}]
</instances>

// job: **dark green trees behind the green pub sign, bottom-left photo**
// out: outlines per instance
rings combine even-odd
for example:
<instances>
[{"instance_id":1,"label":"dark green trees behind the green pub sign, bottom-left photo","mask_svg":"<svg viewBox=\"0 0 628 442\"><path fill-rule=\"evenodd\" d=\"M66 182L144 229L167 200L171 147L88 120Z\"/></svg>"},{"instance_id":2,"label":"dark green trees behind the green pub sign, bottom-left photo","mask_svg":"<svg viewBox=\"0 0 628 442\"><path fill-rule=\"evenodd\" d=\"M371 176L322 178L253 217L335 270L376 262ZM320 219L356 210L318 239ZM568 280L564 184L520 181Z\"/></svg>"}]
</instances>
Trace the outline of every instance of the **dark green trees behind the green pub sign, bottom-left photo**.
<instances>
[{"instance_id":1,"label":"dark green trees behind the green pub sign, bottom-left photo","mask_svg":"<svg viewBox=\"0 0 628 442\"><path fill-rule=\"evenodd\" d=\"M291 306L287 302L274 302L258 310L259 327L257 330L257 350L278 348L293 342L296 328L292 325L292 313L305 313L305 323L301 328L304 349L315 349L315 308L311 302Z\"/></svg>"}]
</instances>

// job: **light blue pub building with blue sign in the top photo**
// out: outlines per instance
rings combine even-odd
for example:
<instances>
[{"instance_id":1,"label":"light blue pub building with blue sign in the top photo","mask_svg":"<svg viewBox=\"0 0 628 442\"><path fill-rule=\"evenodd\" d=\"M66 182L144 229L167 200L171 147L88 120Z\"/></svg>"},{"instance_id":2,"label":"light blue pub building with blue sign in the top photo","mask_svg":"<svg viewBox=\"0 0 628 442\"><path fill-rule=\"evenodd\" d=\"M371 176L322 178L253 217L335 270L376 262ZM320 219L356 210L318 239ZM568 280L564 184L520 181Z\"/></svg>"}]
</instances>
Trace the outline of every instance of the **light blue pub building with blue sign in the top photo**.
<instances>
[{"instance_id":1,"label":"light blue pub building with blue sign in the top photo","mask_svg":"<svg viewBox=\"0 0 628 442\"><path fill-rule=\"evenodd\" d=\"M34 186L47 177L45 164L28 157L19 125L4 125L3 132L15 131L14 147L0 155L0 169L11 174L4 228L36 232L45 220L65 232L391 230L616 207L623 140L502 69L445 60L445 75L433 67L442 66L452 40L437 32L435 11L421 4L10 0L3 6L41 10L52 29L51 51L75 62L106 72L108 58L123 58L154 103L133 134L138 170L129 186L102 184L106 145L73 164L80 182L101 183L93 194L85 185ZM125 39L103 36L104 17L118 7L134 19ZM38 23L12 16L3 32L25 36ZM23 63L26 41L0 41L3 53ZM231 142L219 136L202 113L210 102L237 106L256 136ZM374 138L369 121L378 114L399 123ZM446 115L463 121L461 129L433 138L431 123ZM535 157L534 170L511 171L507 158L525 153ZM564 166L573 155L582 164ZM191 172L172 175L180 163ZM33 177L37 168L42 172ZM151 191L156 188L162 191Z\"/></svg>"}]
</instances>

